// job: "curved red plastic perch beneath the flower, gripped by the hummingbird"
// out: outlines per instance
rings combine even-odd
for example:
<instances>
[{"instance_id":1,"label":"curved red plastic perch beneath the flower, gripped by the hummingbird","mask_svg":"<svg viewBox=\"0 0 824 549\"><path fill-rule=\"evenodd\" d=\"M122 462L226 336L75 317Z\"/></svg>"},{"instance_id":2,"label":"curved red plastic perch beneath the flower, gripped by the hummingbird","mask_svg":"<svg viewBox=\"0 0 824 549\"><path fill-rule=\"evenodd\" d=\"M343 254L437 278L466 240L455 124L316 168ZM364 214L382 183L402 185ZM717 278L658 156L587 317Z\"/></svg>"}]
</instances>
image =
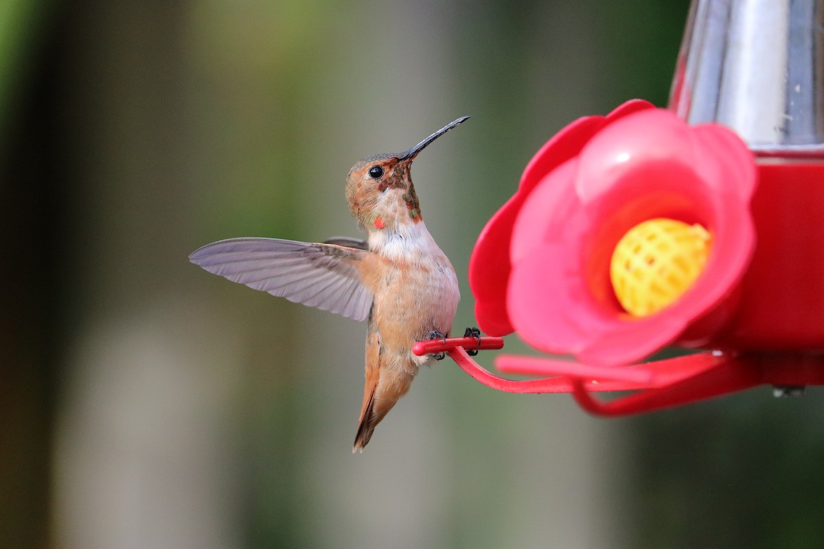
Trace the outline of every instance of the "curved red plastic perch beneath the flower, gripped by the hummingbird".
<instances>
[{"instance_id":1,"label":"curved red plastic perch beneath the flower, gripped by the hummingbird","mask_svg":"<svg viewBox=\"0 0 824 549\"><path fill-rule=\"evenodd\" d=\"M640 365L606 367L531 356L499 356L499 370L516 375L550 375L513 380L494 375L466 352L503 348L501 337L452 337L415 343L413 352L446 352L472 378L508 393L572 393L597 416L629 416L681 406L760 384L803 387L824 384L824 357L803 354L736 354L719 351ZM604 402L592 393L635 391Z\"/></svg>"}]
</instances>

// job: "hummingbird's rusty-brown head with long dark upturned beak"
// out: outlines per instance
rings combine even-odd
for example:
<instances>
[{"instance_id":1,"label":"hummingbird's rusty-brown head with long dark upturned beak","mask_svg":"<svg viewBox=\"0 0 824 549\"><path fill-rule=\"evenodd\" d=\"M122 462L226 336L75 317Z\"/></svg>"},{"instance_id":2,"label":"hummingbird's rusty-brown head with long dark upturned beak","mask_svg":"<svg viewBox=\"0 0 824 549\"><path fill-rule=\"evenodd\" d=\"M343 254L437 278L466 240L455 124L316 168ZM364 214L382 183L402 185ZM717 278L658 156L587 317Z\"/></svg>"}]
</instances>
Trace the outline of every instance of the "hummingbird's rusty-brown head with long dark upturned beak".
<instances>
[{"instance_id":1,"label":"hummingbird's rusty-brown head with long dark upturned beak","mask_svg":"<svg viewBox=\"0 0 824 549\"><path fill-rule=\"evenodd\" d=\"M349 170L346 200L358 224L368 231L390 229L421 220L418 196L412 184L412 161L429 143L468 116L439 129L408 151L367 156Z\"/></svg>"}]
</instances>

